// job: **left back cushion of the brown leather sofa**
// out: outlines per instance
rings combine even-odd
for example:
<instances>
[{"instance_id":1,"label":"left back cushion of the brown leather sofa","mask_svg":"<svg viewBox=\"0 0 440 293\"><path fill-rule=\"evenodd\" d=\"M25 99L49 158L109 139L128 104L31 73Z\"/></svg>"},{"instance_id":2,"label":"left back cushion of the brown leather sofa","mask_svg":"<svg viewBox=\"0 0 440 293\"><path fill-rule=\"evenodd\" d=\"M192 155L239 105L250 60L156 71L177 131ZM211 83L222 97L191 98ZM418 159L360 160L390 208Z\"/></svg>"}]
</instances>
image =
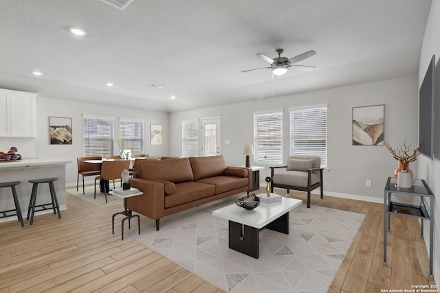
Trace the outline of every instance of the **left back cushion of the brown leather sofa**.
<instances>
[{"instance_id":1,"label":"left back cushion of the brown leather sofa","mask_svg":"<svg viewBox=\"0 0 440 293\"><path fill-rule=\"evenodd\" d=\"M150 161L145 160L137 163L142 179L160 179L173 183L193 181L191 164L188 158Z\"/></svg>"}]
</instances>

